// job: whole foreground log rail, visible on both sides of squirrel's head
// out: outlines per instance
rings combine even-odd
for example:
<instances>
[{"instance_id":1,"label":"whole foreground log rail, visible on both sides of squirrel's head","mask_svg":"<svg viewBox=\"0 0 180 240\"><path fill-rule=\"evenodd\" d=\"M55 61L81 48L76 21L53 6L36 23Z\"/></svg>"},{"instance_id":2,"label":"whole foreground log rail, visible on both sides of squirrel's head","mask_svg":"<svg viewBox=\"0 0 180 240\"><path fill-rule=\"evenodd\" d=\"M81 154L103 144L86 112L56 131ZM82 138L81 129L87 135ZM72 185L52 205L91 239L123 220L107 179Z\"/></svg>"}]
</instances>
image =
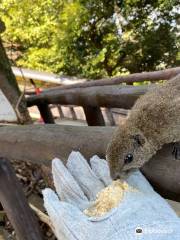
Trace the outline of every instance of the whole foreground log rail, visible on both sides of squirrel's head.
<instances>
[{"instance_id":1,"label":"whole foreground log rail, visible on both sides of squirrel's head","mask_svg":"<svg viewBox=\"0 0 180 240\"><path fill-rule=\"evenodd\" d=\"M54 157L66 162L71 151L80 151L87 159L105 157L114 127L78 127L59 125L1 126L1 156L51 165ZM11 150L9 150L11 149ZM162 196L180 201L180 161L173 158L172 145L164 146L142 171Z\"/></svg>"}]
</instances>

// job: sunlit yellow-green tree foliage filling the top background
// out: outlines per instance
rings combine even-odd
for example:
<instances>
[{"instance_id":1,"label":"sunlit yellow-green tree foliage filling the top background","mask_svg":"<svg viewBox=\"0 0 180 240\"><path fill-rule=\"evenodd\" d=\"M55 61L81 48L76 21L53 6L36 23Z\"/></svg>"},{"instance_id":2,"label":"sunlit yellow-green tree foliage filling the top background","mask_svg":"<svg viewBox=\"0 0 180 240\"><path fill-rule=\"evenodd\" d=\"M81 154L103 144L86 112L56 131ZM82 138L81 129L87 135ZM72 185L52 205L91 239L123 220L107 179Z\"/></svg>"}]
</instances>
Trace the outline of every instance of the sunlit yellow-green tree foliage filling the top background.
<instances>
[{"instance_id":1,"label":"sunlit yellow-green tree foliage filling the top background","mask_svg":"<svg viewBox=\"0 0 180 240\"><path fill-rule=\"evenodd\" d=\"M2 0L23 67L87 78L176 66L177 0Z\"/></svg>"}]
</instances>

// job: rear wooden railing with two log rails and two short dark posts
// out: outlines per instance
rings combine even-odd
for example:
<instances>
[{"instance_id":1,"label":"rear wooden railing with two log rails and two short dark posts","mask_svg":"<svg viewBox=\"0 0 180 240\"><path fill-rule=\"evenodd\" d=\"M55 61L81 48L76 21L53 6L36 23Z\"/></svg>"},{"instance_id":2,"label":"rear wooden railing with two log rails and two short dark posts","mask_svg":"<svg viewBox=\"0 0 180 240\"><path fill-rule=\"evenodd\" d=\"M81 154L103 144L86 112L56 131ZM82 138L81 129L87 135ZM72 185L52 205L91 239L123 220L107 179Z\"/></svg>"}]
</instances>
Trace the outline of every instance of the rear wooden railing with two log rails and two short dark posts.
<instances>
[{"instance_id":1,"label":"rear wooden railing with two log rails and two short dark posts","mask_svg":"<svg viewBox=\"0 0 180 240\"><path fill-rule=\"evenodd\" d=\"M168 80L180 73L180 67L156 72L130 74L112 79L102 79L60 86L27 98L27 106L36 105L45 123L54 123L50 104L76 105L83 107L86 121L90 126L104 126L101 107L130 109L139 96L155 87L152 82ZM148 80L151 84L133 86L129 83ZM122 83L126 83L123 85Z\"/></svg>"}]
</instances>

